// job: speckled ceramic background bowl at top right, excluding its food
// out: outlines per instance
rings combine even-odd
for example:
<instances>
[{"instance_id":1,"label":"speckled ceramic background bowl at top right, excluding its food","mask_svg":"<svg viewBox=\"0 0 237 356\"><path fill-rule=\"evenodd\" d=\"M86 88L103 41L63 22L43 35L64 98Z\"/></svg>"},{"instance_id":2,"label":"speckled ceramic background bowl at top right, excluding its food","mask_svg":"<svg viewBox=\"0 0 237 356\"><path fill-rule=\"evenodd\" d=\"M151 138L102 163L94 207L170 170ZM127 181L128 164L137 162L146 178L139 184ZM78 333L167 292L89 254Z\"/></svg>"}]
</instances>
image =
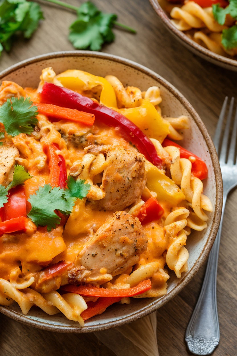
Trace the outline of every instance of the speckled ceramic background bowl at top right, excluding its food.
<instances>
[{"instance_id":1,"label":"speckled ceramic background bowl at top right, excluding its food","mask_svg":"<svg viewBox=\"0 0 237 356\"><path fill-rule=\"evenodd\" d=\"M220 56L220 54L216 54L211 52L209 49L199 45L191 38L185 35L184 32L179 31L173 23L170 21L168 14L162 9L158 0L149 0L153 9L156 11L157 15L161 18L167 29L172 33L172 35L181 42L185 47L187 47L190 51L192 51L197 56L206 59L211 63L216 64L217 66L233 70L237 72L237 60Z\"/></svg>"}]
</instances>

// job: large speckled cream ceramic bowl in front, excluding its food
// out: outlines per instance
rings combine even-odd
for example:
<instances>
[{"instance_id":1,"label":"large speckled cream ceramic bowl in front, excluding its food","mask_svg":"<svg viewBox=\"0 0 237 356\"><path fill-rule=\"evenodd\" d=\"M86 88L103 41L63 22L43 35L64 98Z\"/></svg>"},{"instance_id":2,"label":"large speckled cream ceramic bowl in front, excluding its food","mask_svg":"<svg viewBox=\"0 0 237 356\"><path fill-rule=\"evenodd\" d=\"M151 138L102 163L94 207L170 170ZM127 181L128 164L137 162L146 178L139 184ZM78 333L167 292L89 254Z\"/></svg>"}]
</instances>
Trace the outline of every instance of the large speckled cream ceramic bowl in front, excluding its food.
<instances>
[{"instance_id":1,"label":"large speckled cream ceramic bowl in front, excluding its food","mask_svg":"<svg viewBox=\"0 0 237 356\"><path fill-rule=\"evenodd\" d=\"M141 90L158 85L161 89L162 113L168 116L187 115L190 118L191 127L185 133L182 145L203 158L209 169L204 192L212 201L213 213L210 215L208 227L201 232L193 231L192 239L187 239L188 272L182 274L180 279L176 278L174 273L170 273L168 290L164 297L131 298L129 305L113 305L102 315L86 321L83 328L79 327L78 323L66 319L63 314L47 315L41 309L31 308L27 315L23 315L17 304L0 307L0 312L10 318L51 331L86 333L112 328L134 321L162 307L189 283L208 256L220 223L222 206L222 179L218 157L203 122L183 95L160 75L127 59L88 51L50 53L10 67L0 73L0 80L13 80L22 87L37 87L41 70L45 67L53 67L57 74L66 69L81 69L102 77L113 74L124 85L133 85Z\"/></svg>"}]
</instances>

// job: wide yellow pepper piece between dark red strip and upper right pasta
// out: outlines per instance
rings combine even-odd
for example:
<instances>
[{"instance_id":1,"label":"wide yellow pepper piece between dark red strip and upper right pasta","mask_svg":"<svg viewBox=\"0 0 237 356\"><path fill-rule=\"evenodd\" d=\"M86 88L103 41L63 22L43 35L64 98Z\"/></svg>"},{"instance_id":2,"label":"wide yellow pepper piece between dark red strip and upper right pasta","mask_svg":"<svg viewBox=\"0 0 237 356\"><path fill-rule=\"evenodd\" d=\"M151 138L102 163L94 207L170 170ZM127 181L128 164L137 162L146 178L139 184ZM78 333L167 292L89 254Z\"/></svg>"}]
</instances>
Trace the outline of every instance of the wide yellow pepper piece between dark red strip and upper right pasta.
<instances>
[{"instance_id":1,"label":"wide yellow pepper piece between dark red strip and upper right pasta","mask_svg":"<svg viewBox=\"0 0 237 356\"><path fill-rule=\"evenodd\" d=\"M136 108L118 111L138 126L146 136L156 138L161 143L169 133L169 122L162 119L149 99L143 99L141 105Z\"/></svg>"}]
</instances>

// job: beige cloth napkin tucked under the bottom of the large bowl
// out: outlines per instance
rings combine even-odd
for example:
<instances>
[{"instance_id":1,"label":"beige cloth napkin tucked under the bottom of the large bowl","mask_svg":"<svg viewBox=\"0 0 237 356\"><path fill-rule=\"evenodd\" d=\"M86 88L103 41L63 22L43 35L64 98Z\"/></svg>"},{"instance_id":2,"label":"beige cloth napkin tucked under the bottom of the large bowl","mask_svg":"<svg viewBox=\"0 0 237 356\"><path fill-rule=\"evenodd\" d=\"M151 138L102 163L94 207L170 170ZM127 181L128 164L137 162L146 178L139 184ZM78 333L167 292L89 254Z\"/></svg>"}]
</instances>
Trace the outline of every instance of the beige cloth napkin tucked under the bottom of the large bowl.
<instances>
[{"instance_id":1,"label":"beige cloth napkin tucked under the bottom of the large bowl","mask_svg":"<svg viewBox=\"0 0 237 356\"><path fill-rule=\"evenodd\" d=\"M130 324L94 334L117 356L159 356L156 323L155 312Z\"/></svg>"}]
</instances>

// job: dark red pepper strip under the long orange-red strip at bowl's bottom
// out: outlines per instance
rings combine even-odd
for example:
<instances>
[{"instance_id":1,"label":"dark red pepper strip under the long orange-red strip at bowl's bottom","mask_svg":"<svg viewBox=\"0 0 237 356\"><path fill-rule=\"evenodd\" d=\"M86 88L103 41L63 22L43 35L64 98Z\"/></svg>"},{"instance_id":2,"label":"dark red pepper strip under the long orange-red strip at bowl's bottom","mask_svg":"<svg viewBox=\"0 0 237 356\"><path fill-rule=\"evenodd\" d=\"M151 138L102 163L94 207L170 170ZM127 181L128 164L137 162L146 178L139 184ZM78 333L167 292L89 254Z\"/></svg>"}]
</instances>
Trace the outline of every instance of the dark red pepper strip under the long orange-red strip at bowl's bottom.
<instances>
[{"instance_id":1,"label":"dark red pepper strip under the long orange-red strip at bowl's bottom","mask_svg":"<svg viewBox=\"0 0 237 356\"><path fill-rule=\"evenodd\" d=\"M81 312L81 317L83 320L92 318L92 316L102 314L109 305L120 302L122 298L98 298L96 302L88 302L87 309Z\"/></svg>"}]
</instances>

